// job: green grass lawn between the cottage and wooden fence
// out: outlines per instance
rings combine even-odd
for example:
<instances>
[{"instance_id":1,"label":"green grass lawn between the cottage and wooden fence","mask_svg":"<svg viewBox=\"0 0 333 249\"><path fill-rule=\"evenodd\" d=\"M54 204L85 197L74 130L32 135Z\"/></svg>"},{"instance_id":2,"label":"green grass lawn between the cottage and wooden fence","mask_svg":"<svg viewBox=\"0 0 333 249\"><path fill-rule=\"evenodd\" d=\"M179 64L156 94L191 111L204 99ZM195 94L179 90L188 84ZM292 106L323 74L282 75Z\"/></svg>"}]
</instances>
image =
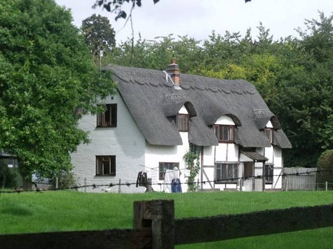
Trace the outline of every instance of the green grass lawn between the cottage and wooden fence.
<instances>
[{"instance_id":1,"label":"green grass lawn between the cottage and wooden fence","mask_svg":"<svg viewBox=\"0 0 333 249\"><path fill-rule=\"evenodd\" d=\"M132 228L133 201L174 199L177 219L333 203L333 191L94 194L77 191L0 194L0 234ZM276 224L272 224L274 226ZM177 232L177 228L176 228ZM333 248L333 228L177 248Z\"/></svg>"}]
</instances>

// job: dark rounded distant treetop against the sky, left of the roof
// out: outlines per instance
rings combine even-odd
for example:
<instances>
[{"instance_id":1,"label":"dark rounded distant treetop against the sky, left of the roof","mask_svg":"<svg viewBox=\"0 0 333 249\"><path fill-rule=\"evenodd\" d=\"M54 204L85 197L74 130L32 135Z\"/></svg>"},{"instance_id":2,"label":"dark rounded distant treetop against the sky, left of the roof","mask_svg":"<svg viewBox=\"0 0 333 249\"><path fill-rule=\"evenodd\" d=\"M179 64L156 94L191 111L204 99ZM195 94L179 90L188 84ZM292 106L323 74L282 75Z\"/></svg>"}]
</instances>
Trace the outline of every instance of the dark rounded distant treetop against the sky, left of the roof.
<instances>
[{"instance_id":1,"label":"dark rounded distant treetop against the sky, left of the roof","mask_svg":"<svg viewBox=\"0 0 333 249\"><path fill-rule=\"evenodd\" d=\"M115 31L108 18L93 14L82 21L81 30L94 56L98 56L100 50L111 52L115 47Z\"/></svg>"}]
</instances>

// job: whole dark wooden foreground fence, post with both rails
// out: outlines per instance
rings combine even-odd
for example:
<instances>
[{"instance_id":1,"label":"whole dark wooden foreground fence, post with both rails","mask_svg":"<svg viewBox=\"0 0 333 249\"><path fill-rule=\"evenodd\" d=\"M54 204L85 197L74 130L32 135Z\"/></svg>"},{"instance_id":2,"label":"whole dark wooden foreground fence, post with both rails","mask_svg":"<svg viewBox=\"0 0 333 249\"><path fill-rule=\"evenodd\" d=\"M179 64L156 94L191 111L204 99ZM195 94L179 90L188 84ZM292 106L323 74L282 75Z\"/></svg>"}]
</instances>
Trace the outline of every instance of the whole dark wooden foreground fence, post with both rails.
<instances>
[{"instance_id":1,"label":"whole dark wooden foreground fence, post with both rails","mask_svg":"<svg viewBox=\"0 0 333 249\"><path fill-rule=\"evenodd\" d=\"M175 220L173 200L153 200L134 202L133 214L134 229L1 235L0 248L173 249L174 245L333 227L333 204Z\"/></svg>"}]
</instances>

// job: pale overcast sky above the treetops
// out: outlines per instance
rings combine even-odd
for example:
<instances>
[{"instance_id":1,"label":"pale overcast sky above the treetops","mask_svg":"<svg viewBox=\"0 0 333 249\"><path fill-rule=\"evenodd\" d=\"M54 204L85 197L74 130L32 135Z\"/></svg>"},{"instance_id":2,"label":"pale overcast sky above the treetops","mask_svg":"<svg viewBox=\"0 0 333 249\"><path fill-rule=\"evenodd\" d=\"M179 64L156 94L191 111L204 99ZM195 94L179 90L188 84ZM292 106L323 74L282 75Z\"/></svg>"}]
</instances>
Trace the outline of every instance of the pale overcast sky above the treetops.
<instances>
[{"instance_id":1,"label":"pale overcast sky above the treetops","mask_svg":"<svg viewBox=\"0 0 333 249\"><path fill-rule=\"evenodd\" d=\"M124 25L124 20L115 21L115 16L105 9L92 9L95 0L56 0L59 5L71 9L73 23L92 14L109 18L116 32ZM145 39L157 36L189 35L197 40L205 40L215 30L224 34L226 30L240 31L245 34L252 29L252 37L258 34L259 21L270 29L274 40L288 35L296 36L295 28L304 28L304 19L318 18L318 10L325 15L333 12L333 0L160 0L154 5L153 0L142 0L141 8L133 11L135 39L140 32ZM125 5L128 9L129 4ZM124 8L126 10L126 8ZM127 11L129 13L129 11ZM117 32L117 42L131 36L130 23Z\"/></svg>"}]
</instances>

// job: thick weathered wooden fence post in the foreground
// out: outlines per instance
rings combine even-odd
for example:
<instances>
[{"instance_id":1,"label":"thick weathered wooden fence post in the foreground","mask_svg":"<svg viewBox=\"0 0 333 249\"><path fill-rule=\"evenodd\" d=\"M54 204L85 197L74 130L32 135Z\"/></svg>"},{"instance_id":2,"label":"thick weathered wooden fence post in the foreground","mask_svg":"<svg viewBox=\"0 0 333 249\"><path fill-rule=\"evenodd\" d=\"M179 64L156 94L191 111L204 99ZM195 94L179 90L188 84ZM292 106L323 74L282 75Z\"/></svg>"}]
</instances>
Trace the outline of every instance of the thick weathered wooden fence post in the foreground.
<instances>
[{"instance_id":1,"label":"thick weathered wooden fence post in the foreground","mask_svg":"<svg viewBox=\"0 0 333 249\"><path fill-rule=\"evenodd\" d=\"M137 201L133 203L133 228L142 229L147 227L151 227L152 241L145 248L174 249L173 200Z\"/></svg>"}]
</instances>

